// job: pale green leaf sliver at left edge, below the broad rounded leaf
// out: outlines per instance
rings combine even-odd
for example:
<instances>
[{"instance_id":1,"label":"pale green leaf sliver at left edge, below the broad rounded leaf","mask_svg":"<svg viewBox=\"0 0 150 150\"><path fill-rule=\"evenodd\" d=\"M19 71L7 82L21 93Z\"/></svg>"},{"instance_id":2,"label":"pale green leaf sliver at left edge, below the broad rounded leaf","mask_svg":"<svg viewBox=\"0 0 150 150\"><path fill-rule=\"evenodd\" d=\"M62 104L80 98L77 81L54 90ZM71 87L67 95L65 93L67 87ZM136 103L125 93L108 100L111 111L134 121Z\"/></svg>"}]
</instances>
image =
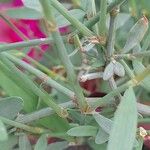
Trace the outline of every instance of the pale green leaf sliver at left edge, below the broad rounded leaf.
<instances>
[{"instance_id":1,"label":"pale green leaf sliver at left edge, below the broad rounded leaf","mask_svg":"<svg viewBox=\"0 0 150 150\"><path fill-rule=\"evenodd\" d=\"M0 141L6 141L8 139L8 134L3 122L0 120Z\"/></svg>"}]
</instances>

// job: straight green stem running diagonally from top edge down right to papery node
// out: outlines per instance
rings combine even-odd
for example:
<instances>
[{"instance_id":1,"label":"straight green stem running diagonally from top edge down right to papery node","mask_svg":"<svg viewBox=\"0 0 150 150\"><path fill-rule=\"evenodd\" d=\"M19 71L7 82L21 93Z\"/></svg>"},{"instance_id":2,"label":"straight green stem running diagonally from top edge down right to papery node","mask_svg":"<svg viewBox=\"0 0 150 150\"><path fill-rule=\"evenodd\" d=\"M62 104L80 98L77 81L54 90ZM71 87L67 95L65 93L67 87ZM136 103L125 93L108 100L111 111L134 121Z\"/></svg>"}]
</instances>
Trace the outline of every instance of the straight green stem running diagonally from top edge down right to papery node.
<instances>
[{"instance_id":1,"label":"straight green stem running diagonally from top edge down right to papery node","mask_svg":"<svg viewBox=\"0 0 150 150\"><path fill-rule=\"evenodd\" d=\"M51 0L51 5L60 12L74 27L76 27L83 35L93 36L94 33L90 31L84 24L69 14L68 10L57 0Z\"/></svg>"}]
</instances>

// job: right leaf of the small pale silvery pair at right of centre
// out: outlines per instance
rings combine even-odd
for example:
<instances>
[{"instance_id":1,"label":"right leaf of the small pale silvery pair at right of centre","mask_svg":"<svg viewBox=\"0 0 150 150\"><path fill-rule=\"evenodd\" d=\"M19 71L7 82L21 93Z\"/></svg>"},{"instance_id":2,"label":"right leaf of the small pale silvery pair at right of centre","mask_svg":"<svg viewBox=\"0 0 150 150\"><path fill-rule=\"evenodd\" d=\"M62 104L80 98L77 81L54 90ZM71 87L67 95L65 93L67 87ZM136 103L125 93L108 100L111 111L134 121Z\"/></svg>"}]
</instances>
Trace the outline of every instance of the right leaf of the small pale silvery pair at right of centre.
<instances>
[{"instance_id":1,"label":"right leaf of the small pale silvery pair at right of centre","mask_svg":"<svg viewBox=\"0 0 150 150\"><path fill-rule=\"evenodd\" d=\"M114 73L119 77L123 77L125 75L124 67L119 62L114 63Z\"/></svg>"}]
</instances>

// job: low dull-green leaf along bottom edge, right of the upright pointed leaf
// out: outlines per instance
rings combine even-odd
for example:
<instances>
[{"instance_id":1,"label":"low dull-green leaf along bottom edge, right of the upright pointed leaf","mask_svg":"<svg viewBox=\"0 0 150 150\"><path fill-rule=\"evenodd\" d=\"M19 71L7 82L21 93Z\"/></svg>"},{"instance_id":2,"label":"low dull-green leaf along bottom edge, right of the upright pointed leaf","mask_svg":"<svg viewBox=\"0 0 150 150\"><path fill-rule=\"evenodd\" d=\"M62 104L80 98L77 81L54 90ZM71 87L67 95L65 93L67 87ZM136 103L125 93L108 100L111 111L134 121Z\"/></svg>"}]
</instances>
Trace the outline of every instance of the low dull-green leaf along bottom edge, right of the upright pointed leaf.
<instances>
[{"instance_id":1,"label":"low dull-green leaf along bottom edge, right of the upright pointed leaf","mask_svg":"<svg viewBox=\"0 0 150 150\"><path fill-rule=\"evenodd\" d=\"M68 147L68 142L55 142L48 145L46 150L62 150Z\"/></svg>"}]
</instances>

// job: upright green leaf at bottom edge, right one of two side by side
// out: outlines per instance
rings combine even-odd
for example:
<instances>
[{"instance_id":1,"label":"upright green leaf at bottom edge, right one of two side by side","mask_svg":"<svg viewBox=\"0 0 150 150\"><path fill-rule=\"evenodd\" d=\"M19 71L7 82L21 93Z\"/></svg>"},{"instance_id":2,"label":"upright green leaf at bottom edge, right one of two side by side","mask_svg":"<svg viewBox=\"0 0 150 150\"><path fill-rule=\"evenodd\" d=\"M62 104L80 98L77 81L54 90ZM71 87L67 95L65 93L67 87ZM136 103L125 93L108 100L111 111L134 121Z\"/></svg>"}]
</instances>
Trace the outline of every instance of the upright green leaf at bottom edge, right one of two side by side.
<instances>
[{"instance_id":1,"label":"upright green leaf at bottom edge, right one of two side by side","mask_svg":"<svg viewBox=\"0 0 150 150\"><path fill-rule=\"evenodd\" d=\"M46 150L46 148L47 148L47 136L46 135L42 135L38 139L34 150Z\"/></svg>"}]
</instances>

